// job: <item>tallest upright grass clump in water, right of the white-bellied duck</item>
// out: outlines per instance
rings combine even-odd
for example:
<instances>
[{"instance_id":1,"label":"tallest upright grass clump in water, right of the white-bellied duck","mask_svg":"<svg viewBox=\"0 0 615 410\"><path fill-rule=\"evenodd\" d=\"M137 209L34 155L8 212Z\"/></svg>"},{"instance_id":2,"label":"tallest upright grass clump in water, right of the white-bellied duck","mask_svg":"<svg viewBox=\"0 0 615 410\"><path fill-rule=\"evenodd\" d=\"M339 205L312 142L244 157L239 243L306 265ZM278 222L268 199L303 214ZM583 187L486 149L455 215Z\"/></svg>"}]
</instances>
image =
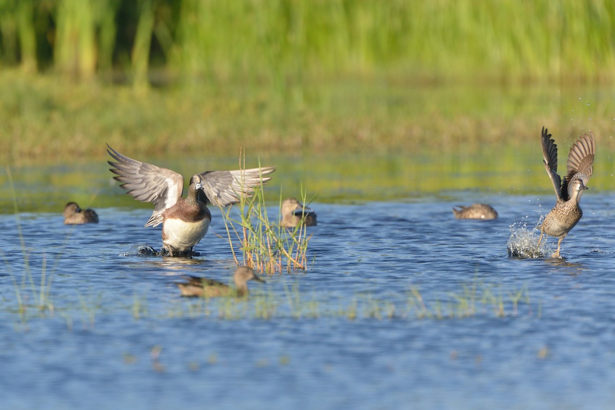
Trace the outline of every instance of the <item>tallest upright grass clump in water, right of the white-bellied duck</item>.
<instances>
[{"instance_id":1,"label":"tallest upright grass clump in water, right of the white-bellied duck","mask_svg":"<svg viewBox=\"0 0 615 410\"><path fill-rule=\"evenodd\" d=\"M244 160L240 156L241 169L245 169ZM280 207L281 203L280 199ZM237 265L248 266L267 275L307 268L308 243L312 234L308 235L304 226L287 229L280 226L279 220L271 221L262 184L255 187L252 197L240 195L240 202L235 207L239 213L236 218L231 216L232 205L220 207L220 211L226 239Z\"/></svg>"}]
</instances>

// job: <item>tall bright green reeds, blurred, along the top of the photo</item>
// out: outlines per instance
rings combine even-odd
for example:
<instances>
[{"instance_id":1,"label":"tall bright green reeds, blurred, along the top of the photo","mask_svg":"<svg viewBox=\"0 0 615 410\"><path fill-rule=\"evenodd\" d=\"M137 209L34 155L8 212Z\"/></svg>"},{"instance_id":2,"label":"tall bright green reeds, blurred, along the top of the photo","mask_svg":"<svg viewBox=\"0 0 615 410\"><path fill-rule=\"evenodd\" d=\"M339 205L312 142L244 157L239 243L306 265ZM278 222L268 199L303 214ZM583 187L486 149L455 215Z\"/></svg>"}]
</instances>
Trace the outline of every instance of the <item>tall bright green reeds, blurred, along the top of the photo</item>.
<instances>
[{"instance_id":1,"label":"tall bright green reeds, blurred, along the top of the photo","mask_svg":"<svg viewBox=\"0 0 615 410\"><path fill-rule=\"evenodd\" d=\"M1 65L184 84L387 71L423 81L612 81L609 0L1 0Z\"/></svg>"}]
</instances>

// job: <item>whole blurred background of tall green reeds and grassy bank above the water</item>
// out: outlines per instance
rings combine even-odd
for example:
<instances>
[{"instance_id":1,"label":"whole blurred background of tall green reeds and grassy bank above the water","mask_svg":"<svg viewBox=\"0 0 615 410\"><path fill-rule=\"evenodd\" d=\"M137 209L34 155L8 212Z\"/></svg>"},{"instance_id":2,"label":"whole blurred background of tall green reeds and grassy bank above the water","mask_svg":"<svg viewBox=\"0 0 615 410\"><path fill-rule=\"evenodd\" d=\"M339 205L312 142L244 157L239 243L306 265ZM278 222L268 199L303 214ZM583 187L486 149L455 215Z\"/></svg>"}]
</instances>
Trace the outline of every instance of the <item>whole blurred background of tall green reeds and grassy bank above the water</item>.
<instances>
[{"instance_id":1,"label":"whole blurred background of tall green reeds and grassy bank above the water","mask_svg":"<svg viewBox=\"0 0 615 410\"><path fill-rule=\"evenodd\" d=\"M608 0L0 0L0 159L613 149L614 76Z\"/></svg>"}]
</instances>

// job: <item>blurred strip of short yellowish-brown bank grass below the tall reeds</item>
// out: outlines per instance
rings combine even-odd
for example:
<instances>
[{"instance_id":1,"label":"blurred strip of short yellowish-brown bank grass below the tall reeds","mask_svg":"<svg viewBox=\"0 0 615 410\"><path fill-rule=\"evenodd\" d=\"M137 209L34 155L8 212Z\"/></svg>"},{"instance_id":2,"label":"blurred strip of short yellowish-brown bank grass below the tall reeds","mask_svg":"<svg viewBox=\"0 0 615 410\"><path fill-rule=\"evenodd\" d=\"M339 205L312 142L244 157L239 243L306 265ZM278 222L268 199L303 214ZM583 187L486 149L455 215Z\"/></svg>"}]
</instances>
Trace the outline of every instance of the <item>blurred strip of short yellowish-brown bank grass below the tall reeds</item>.
<instances>
[{"instance_id":1,"label":"blurred strip of short yellowish-brown bank grass below the tall reeds","mask_svg":"<svg viewBox=\"0 0 615 410\"><path fill-rule=\"evenodd\" d=\"M186 152L228 157L240 147L267 160L323 152L472 154L524 148L543 125L563 136L563 145L592 130L600 150L615 150L609 85L415 87L343 79L309 83L295 100L258 82L156 89L147 98L129 87L17 71L0 70L0 82L0 160L10 165L104 164L105 143L166 159Z\"/></svg>"}]
</instances>

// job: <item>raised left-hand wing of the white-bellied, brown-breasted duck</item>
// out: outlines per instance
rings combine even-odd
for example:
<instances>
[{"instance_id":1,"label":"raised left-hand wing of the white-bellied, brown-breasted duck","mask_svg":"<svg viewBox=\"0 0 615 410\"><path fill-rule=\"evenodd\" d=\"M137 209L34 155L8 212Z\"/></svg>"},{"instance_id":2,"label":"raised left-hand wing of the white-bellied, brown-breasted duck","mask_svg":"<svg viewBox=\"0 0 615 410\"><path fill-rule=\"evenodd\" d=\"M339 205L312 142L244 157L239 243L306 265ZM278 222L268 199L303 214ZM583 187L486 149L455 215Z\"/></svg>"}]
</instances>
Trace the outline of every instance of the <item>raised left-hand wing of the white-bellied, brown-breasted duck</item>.
<instances>
[{"instance_id":1,"label":"raised left-hand wing of the white-bellied, brown-breasted duck","mask_svg":"<svg viewBox=\"0 0 615 410\"><path fill-rule=\"evenodd\" d=\"M145 226L162 223L162 213L181 198L184 178L175 171L156 167L135 159L125 157L107 144L107 152L117 162L109 161L109 171L117 174L113 179L121 182L127 194L141 202L154 204L154 212Z\"/></svg>"}]
</instances>

